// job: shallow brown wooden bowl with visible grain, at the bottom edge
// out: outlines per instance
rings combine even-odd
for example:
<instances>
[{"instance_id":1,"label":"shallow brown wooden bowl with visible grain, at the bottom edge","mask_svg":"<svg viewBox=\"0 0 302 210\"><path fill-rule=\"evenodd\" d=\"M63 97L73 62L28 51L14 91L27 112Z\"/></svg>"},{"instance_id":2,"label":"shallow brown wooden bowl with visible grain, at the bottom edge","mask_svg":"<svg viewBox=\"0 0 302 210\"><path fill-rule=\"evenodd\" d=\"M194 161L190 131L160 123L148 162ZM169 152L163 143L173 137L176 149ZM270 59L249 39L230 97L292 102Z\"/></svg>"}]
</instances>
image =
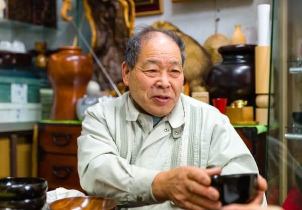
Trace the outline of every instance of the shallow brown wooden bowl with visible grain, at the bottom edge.
<instances>
[{"instance_id":1,"label":"shallow brown wooden bowl with visible grain, at the bottom edge","mask_svg":"<svg viewBox=\"0 0 302 210\"><path fill-rule=\"evenodd\" d=\"M66 197L50 203L51 210L111 210L116 206L116 201L98 196Z\"/></svg>"}]
</instances>

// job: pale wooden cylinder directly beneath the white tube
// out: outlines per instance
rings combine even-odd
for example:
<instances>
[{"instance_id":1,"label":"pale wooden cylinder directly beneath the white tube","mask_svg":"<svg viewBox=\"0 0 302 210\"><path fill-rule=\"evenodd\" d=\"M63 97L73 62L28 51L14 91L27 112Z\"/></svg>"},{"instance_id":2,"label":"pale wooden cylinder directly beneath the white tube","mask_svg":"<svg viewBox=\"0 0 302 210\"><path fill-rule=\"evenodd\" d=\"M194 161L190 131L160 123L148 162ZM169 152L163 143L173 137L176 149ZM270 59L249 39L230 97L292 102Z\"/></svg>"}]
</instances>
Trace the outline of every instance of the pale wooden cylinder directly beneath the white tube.
<instances>
[{"instance_id":1,"label":"pale wooden cylinder directly beneath the white tube","mask_svg":"<svg viewBox=\"0 0 302 210\"><path fill-rule=\"evenodd\" d=\"M256 94L269 93L270 46L255 48Z\"/></svg>"}]
</instances>

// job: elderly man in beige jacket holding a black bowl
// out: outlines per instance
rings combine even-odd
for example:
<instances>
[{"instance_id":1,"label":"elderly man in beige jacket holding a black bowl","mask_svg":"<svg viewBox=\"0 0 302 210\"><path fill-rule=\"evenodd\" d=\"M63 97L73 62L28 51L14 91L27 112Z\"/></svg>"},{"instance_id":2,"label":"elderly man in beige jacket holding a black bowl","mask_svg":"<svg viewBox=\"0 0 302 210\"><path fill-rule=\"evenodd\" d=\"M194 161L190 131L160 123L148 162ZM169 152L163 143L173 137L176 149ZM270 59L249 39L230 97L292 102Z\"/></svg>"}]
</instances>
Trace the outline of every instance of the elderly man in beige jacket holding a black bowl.
<instances>
[{"instance_id":1,"label":"elderly man in beige jacket holding a black bowl","mask_svg":"<svg viewBox=\"0 0 302 210\"><path fill-rule=\"evenodd\" d=\"M228 118L181 93L184 47L173 32L150 27L129 39L122 64L129 92L88 108L78 138L89 194L129 209L217 209L211 175L258 172ZM258 177L253 206L266 190Z\"/></svg>"}]
</instances>

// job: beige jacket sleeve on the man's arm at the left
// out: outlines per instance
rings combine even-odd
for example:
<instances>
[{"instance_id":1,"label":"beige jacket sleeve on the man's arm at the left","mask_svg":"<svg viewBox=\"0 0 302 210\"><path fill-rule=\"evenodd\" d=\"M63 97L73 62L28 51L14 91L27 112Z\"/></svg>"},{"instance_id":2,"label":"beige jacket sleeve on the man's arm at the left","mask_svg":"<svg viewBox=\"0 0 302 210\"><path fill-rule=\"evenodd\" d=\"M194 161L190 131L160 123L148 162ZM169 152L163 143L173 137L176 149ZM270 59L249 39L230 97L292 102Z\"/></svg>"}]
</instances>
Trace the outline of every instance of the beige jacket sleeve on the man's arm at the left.
<instances>
[{"instance_id":1,"label":"beige jacket sleeve on the man's arm at the left","mask_svg":"<svg viewBox=\"0 0 302 210\"><path fill-rule=\"evenodd\" d=\"M120 157L105 118L88 108L78 138L78 172L88 193L110 197L126 206L156 203L150 187L160 172L130 165Z\"/></svg>"}]
</instances>

